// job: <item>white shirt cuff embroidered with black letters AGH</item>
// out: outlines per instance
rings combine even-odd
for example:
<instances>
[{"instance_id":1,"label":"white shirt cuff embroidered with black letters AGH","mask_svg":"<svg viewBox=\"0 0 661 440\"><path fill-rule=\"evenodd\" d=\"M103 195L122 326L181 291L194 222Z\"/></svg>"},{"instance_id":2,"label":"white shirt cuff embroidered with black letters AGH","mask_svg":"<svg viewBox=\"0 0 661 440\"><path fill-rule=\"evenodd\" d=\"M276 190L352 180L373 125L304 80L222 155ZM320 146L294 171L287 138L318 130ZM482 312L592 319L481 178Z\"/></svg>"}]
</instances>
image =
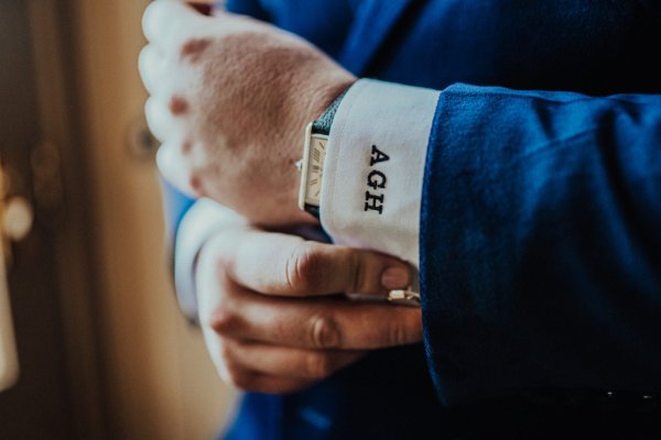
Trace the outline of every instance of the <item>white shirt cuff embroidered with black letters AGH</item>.
<instances>
[{"instance_id":1,"label":"white shirt cuff embroidered with black letters AGH","mask_svg":"<svg viewBox=\"0 0 661 440\"><path fill-rule=\"evenodd\" d=\"M422 180L438 94L361 79L344 97L330 128L321 200L322 224L336 243L395 255L418 268ZM372 145L389 160L370 165ZM381 213L366 210L366 201Z\"/></svg>"}]
</instances>

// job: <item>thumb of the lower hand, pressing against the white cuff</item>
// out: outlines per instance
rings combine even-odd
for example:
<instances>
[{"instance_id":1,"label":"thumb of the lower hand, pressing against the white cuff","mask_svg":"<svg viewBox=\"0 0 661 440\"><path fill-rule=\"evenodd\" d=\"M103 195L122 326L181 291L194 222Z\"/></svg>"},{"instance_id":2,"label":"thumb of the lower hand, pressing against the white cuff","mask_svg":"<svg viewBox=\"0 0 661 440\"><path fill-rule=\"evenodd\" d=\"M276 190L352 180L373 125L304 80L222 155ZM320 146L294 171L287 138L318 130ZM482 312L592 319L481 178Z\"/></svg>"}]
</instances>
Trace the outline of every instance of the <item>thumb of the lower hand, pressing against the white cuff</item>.
<instances>
[{"instance_id":1,"label":"thumb of the lower hand, pressing against the white cuff","mask_svg":"<svg viewBox=\"0 0 661 440\"><path fill-rule=\"evenodd\" d=\"M286 234L247 234L231 262L232 279L266 295L386 295L410 282L408 265L394 257Z\"/></svg>"}]
</instances>

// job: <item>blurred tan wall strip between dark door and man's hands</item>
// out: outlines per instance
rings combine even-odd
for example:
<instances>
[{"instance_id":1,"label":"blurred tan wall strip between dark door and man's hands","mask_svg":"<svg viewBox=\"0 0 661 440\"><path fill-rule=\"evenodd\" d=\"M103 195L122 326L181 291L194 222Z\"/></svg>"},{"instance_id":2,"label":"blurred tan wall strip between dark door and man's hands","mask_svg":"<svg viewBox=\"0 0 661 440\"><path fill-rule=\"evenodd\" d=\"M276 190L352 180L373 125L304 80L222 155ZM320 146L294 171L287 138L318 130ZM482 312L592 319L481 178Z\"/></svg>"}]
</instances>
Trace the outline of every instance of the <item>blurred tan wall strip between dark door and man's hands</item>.
<instances>
[{"instance_id":1,"label":"blurred tan wall strip between dark door and man's hands","mask_svg":"<svg viewBox=\"0 0 661 440\"><path fill-rule=\"evenodd\" d=\"M153 160L127 141L147 98L137 70L145 0L71 0L91 176L110 438L208 439L232 393L180 315L163 254Z\"/></svg>"}]
</instances>

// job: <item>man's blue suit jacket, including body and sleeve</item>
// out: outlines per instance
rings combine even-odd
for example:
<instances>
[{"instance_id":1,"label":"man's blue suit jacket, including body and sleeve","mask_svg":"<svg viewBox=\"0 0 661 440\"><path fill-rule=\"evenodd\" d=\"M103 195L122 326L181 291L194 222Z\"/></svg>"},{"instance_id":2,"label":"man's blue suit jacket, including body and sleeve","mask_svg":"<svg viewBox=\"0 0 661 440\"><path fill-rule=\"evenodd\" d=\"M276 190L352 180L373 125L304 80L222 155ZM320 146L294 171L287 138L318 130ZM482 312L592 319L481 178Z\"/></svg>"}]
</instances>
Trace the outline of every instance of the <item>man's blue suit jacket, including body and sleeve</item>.
<instances>
[{"instance_id":1,"label":"man's blue suit jacket, including body and sleeve","mask_svg":"<svg viewBox=\"0 0 661 440\"><path fill-rule=\"evenodd\" d=\"M422 199L424 346L300 394L247 394L229 438L660 429L659 404L636 394L661 392L658 4L228 2L358 76L444 89ZM173 224L188 205L171 204Z\"/></svg>"}]
</instances>

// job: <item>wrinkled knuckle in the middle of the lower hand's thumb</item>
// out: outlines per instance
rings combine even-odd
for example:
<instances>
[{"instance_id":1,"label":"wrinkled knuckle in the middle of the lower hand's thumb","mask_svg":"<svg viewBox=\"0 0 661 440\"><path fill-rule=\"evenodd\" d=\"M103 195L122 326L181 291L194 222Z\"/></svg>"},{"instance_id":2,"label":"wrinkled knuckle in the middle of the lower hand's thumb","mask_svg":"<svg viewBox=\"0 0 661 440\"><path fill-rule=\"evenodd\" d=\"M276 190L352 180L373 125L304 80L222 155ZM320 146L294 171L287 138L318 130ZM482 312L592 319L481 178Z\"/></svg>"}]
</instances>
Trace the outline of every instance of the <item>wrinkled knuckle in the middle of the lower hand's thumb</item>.
<instances>
[{"instance_id":1,"label":"wrinkled knuckle in the middle of the lower hand's thumb","mask_svg":"<svg viewBox=\"0 0 661 440\"><path fill-rule=\"evenodd\" d=\"M314 289L324 273L324 261L318 248L302 242L286 261L286 283L293 292L305 293Z\"/></svg>"}]
</instances>

